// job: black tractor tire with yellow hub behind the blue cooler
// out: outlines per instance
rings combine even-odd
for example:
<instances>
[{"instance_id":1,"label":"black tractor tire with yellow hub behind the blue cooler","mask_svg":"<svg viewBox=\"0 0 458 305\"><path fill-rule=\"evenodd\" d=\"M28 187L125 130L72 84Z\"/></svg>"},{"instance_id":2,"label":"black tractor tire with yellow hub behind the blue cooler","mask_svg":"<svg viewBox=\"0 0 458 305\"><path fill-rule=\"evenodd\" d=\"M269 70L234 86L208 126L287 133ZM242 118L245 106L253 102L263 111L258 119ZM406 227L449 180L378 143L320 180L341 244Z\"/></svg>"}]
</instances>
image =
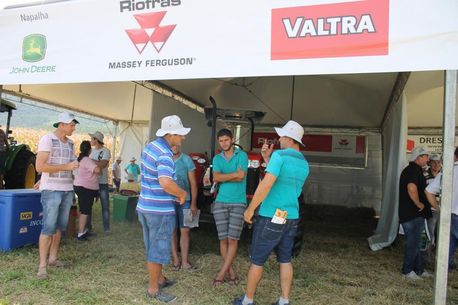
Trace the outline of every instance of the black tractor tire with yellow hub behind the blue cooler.
<instances>
[{"instance_id":1,"label":"black tractor tire with yellow hub behind the blue cooler","mask_svg":"<svg viewBox=\"0 0 458 305\"><path fill-rule=\"evenodd\" d=\"M21 149L14 159L11 169L5 173L5 189L32 189L37 181L35 157L32 151Z\"/></svg>"}]
</instances>

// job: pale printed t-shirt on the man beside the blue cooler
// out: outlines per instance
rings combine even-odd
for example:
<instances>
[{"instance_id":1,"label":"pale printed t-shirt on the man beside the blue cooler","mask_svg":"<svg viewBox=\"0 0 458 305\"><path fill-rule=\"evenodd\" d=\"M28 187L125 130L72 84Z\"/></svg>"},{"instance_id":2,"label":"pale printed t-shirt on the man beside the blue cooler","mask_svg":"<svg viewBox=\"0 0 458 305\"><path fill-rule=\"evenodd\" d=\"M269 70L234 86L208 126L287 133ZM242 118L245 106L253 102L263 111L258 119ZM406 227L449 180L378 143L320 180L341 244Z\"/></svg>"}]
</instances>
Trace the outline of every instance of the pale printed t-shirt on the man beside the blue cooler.
<instances>
[{"instance_id":1,"label":"pale printed t-shirt on the man beside the blue cooler","mask_svg":"<svg viewBox=\"0 0 458 305\"><path fill-rule=\"evenodd\" d=\"M46 163L67 164L75 159L75 144L68 139L62 142L54 134L44 135L38 142L38 151L48 151ZM71 170L61 170L52 173L42 173L40 190L73 191L73 178Z\"/></svg>"}]
</instances>

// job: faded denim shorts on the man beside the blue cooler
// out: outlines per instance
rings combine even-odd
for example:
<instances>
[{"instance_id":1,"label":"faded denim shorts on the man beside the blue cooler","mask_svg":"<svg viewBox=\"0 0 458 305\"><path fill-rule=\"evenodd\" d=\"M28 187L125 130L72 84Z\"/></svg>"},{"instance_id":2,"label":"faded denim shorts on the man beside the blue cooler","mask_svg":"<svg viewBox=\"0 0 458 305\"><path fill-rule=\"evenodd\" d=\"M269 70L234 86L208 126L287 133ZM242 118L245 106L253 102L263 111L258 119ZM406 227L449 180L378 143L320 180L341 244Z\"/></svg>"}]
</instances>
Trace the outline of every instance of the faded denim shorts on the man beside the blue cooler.
<instances>
[{"instance_id":1,"label":"faded denim shorts on the man beside the blue cooler","mask_svg":"<svg viewBox=\"0 0 458 305\"><path fill-rule=\"evenodd\" d=\"M54 235L56 230L67 230L73 191L41 191L43 222L41 234Z\"/></svg>"}]
</instances>

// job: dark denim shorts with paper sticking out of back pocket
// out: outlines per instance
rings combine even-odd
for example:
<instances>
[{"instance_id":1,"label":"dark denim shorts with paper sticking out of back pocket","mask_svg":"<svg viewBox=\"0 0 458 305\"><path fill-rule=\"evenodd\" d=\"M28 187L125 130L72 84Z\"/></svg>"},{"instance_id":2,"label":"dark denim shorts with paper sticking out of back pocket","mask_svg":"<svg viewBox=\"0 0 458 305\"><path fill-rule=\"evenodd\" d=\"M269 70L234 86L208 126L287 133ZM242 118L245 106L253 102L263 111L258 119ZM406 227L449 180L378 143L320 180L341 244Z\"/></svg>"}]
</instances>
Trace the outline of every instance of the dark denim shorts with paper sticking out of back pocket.
<instances>
[{"instance_id":1,"label":"dark denim shorts with paper sticking out of back pocket","mask_svg":"<svg viewBox=\"0 0 458 305\"><path fill-rule=\"evenodd\" d=\"M258 216L253 228L250 262L264 266L272 251L277 248L277 262L290 263L298 219L287 219L285 224L271 222L271 217Z\"/></svg>"}]
</instances>

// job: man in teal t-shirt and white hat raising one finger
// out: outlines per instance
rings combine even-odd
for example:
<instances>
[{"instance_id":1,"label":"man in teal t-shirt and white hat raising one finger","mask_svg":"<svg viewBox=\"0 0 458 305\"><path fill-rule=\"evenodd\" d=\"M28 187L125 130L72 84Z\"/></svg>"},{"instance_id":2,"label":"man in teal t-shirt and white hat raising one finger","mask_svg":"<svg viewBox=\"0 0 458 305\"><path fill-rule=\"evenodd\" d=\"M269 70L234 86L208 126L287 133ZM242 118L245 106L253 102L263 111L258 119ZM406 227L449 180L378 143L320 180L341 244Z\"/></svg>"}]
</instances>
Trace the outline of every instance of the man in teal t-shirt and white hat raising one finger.
<instances>
[{"instance_id":1,"label":"man in teal t-shirt and white hat raising one finger","mask_svg":"<svg viewBox=\"0 0 458 305\"><path fill-rule=\"evenodd\" d=\"M250 252L250 269L246 293L235 298L233 304L253 303L254 293L263 276L263 266L276 248L280 265L281 293L273 304L289 304L293 265L291 250L299 222L298 197L308 176L308 163L300 152L304 129L290 120L283 128L275 128L280 136L280 150L272 153L273 144L264 143L261 154L267 163L266 175L253 195L245 211L245 221L251 223L254 210L261 204L259 216L254 223ZM261 203L262 202L262 203Z\"/></svg>"}]
</instances>

